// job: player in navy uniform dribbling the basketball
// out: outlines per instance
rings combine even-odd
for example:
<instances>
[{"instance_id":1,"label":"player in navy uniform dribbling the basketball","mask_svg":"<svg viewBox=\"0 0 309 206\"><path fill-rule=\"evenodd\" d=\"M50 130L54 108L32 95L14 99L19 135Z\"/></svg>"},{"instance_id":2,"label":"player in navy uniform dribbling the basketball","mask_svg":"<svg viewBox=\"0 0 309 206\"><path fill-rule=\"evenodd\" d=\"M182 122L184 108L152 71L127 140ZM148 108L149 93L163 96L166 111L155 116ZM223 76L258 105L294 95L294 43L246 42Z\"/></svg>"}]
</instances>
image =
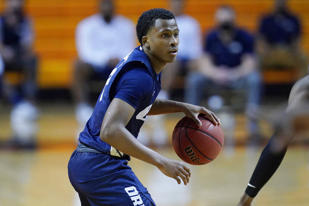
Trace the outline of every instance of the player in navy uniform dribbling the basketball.
<instances>
[{"instance_id":1,"label":"player in navy uniform dribbling the basketball","mask_svg":"<svg viewBox=\"0 0 309 206\"><path fill-rule=\"evenodd\" d=\"M184 163L165 158L137 141L147 113L184 112L197 125L201 125L197 115L203 113L220 124L204 107L156 99L161 71L175 61L178 51L179 29L173 13L165 9L144 12L136 32L141 46L112 70L68 164L70 182L82 205L155 205L127 165L130 156L187 185L191 172Z\"/></svg>"}]
</instances>

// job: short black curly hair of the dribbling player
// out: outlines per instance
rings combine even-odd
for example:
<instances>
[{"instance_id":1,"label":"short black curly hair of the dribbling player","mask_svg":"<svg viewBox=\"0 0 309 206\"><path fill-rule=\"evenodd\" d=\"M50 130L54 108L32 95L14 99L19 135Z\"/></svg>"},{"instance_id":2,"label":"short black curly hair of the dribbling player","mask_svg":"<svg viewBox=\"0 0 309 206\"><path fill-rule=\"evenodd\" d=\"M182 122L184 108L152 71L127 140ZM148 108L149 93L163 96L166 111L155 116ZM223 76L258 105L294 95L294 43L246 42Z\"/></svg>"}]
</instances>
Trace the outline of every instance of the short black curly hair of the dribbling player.
<instances>
[{"instance_id":1,"label":"short black curly hair of the dribbling player","mask_svg":"<svg viewBox=\"0 0 309 206\"><path fill-rule=\"evenodd\" d=\"M175 15L166 9L155 8L142 13L136 24L136 34L139 43L142 45L142 38L155 26L156 19L175 19Z\"/></svg>"}]
</instances>

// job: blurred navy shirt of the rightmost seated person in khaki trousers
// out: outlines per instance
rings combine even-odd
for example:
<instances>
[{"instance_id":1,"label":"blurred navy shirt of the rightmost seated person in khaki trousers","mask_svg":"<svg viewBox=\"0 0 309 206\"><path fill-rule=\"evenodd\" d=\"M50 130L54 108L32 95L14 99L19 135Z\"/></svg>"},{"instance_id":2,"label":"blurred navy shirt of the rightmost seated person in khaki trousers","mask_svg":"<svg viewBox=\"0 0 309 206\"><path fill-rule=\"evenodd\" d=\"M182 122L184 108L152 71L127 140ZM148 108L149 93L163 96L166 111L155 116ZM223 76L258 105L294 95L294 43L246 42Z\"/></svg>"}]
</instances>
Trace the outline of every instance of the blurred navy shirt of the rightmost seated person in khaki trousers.
<instances>
[{"instance_id":1,"label":"blurred navy shirt of the rightmost seated person in khaki trousers","mask_svg":"<svg viewBox=\"0 0 309 206\"><path fill-rule=\"evenodd\" d=\"M270 44L290 44L300 35L300 24L292 14L272 14L261 20L259 32Z\"/></svg>"}]
</instances>

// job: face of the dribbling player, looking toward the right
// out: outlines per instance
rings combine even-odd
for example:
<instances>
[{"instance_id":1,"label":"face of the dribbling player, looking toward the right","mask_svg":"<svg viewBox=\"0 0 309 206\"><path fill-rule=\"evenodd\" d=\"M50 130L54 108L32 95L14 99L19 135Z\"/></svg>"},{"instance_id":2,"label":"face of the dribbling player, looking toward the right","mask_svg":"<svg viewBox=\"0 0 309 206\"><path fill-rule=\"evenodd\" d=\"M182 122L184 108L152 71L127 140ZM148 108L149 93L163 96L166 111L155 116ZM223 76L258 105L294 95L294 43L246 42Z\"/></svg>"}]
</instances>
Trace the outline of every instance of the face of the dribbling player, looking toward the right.
<instances>
[{"instance_id":1,"label":"face of the dribbling player, looking toward the right","mask_svg":"<svg viewBox=\"0 0 309 206\"><path fill-rule=\"evenodd\" d=\"M179 29L175 19L157 19L148 36L149 50L153 57L164 63L176 60Z\"/></svg>"}]
</instances>

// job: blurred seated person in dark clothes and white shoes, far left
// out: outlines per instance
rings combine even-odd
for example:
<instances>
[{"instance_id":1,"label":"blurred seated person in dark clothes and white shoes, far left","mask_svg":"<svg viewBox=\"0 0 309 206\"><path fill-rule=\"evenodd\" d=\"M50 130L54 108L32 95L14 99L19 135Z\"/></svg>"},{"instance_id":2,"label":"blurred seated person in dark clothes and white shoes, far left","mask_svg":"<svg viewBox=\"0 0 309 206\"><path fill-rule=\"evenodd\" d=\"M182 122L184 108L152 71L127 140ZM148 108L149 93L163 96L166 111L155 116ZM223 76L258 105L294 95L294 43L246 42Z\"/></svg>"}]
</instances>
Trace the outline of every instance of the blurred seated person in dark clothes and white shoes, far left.
<instances>
[{"instance_id":1,"label":"blurred seated person in dark clothes and white shoes, far left","mask_svg":"<svg viewBox=\"0 0 309 206\"><path fill-rule=\"evenodd\" d=\"M13 105L10 146L34 148L37 58L32 49L32 23L24 14L23 6L23 0L6 0L5 11L0 17L0 53L4 63L0 85L3 96ZM22 81L13 84L5 75L10 72L22 76Z\"/></svg>"}]
</instances>

